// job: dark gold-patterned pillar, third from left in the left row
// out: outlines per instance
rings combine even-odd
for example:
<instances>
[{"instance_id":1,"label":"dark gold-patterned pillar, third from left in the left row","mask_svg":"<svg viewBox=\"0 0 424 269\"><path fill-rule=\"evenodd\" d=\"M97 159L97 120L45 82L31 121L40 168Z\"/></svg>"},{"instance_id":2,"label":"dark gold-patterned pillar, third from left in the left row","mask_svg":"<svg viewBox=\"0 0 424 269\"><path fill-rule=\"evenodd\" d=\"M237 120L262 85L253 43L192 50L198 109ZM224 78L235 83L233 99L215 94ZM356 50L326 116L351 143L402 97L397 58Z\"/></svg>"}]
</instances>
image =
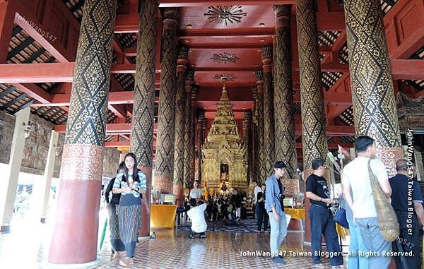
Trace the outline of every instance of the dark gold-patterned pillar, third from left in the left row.
<instances>
[{"instance_id":1,"label":"dark gold-patterned pillar, third from left in the left row","mask_svg":"<svg viewBox=\"0 0 424 269\"><path fill-rule=\"evenodd\" d=\"M158 138L153 191L172 193L175 143L175 92L177 88L177 8L163 14L162 71L160 73Z\"/></svg>"}]
</instances>

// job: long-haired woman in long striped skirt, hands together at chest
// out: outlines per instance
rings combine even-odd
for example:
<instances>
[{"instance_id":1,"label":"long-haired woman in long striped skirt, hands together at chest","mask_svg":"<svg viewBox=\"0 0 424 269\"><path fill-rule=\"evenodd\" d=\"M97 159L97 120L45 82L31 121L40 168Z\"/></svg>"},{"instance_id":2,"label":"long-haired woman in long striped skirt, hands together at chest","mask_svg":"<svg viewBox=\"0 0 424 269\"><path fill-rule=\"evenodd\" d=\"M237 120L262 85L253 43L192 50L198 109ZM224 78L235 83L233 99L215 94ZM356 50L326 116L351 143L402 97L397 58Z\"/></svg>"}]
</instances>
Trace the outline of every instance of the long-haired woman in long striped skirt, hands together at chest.
<instances>
[{"instance_id":1,"label":"long-haired woman in long striped skirt, hands together at chest","mask_svg":"<svg viewBox=\"0 0 424 269\"><path fill-rule=\"evenodd\" d=\"M131 266L141 224L141 198L146 193L146 176L137 168L136 155L125 155L124 172L119 172L113 184L113 193L121 193L118 207L119 237L125 245L126 257L119 263Z\"/></svg>"}]
</instances>

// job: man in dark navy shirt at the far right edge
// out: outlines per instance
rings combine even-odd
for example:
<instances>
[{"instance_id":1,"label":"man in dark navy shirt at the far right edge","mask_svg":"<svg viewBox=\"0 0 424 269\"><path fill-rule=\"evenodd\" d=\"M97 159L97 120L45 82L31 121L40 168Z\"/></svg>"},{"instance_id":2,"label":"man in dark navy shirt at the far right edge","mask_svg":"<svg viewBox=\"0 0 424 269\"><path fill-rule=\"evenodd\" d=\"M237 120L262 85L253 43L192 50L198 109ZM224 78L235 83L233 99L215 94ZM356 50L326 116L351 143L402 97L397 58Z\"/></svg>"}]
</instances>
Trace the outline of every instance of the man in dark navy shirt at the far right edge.
<instances>
[{"instance_id":1,"label":"man in dark navy shirt at the far right edge","mask_svg":"<svg viewBox=\"0 0 424 269\"><path fill-rule=\"evenodd\" d=\"M420 231L418 220L424 222L423 195L417 181L413 181L412 173L408 174L408 162L396 162L396 176L389 179L391 186L391 205L399 221L401 234L392 243L394 252L412 251L413 256L405 256L408 268L421 268L420 260ZM400 243L400 244L399 244ZM401 249L399 249L401 247ZM396 268L404 268L399 256L394 256Z\"/></svg>"}]
</instances>

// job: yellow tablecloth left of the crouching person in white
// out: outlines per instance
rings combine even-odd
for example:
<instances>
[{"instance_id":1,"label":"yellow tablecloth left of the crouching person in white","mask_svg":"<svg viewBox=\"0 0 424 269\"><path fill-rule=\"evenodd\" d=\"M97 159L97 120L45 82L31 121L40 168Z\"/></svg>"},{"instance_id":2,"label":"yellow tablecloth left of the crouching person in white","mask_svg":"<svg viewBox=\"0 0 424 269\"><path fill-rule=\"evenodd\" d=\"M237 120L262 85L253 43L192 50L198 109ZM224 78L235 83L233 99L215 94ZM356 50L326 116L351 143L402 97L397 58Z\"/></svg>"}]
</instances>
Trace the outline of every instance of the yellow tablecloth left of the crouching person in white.
<instances>
[{"instance_id":1,"label":"yellow tablecloth left of the crouching person in white","mask_svg":"<svg viewBox=\"0 0 424 269\"><path fill-rule=\"evenodd\" d=\"M173 228L177 205L151 205L151 228Z\"/></svg>"}]
</instances>

